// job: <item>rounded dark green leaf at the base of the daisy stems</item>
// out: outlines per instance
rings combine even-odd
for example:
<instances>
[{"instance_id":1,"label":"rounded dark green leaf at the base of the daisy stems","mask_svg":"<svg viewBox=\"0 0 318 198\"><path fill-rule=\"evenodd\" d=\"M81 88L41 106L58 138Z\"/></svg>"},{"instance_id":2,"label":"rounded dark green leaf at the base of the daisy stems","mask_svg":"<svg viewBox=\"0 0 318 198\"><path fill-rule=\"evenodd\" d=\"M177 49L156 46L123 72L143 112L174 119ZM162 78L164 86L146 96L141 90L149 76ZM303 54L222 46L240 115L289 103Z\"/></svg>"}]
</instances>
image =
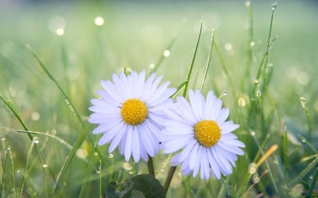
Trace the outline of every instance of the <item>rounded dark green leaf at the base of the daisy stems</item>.
<instances>
[{"instance_id":1,"label":"rounded dark green leaf at the base of the daisy stems","mask_svg":"<svg viewBox=\"0 0 318 198\"><path fill-rule=\"evenodd\" d=\"M133 195L136 195L137 192L135 191L139 190L145 198L165 198L163 186L153 176L148 174L137 175L131 178L131 181L133 182L133 189L131 190Z\"/></svg>"}]
</instances>

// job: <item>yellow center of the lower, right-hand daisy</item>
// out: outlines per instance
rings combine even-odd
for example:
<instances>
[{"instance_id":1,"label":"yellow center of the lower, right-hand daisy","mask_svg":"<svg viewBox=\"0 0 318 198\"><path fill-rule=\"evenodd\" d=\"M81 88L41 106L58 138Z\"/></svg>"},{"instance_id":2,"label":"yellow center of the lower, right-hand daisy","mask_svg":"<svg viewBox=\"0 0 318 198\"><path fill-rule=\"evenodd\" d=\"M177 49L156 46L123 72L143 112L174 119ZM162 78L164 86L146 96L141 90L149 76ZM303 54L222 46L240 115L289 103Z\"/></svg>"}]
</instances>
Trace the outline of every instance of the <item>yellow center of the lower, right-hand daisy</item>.
<instances>
[{"instance_id":1,"label":"yellow center of the lower, right-hand daisy","mask_svg":"<svg viewBox=\"0 0 318 198\"><path fill-rule=\"evenodd\" d=\"M196 140L204 147L214 146L220 140L221 132L218 123L213 120L201 120L194 125Z\"/></svg>"}]
</instances>

